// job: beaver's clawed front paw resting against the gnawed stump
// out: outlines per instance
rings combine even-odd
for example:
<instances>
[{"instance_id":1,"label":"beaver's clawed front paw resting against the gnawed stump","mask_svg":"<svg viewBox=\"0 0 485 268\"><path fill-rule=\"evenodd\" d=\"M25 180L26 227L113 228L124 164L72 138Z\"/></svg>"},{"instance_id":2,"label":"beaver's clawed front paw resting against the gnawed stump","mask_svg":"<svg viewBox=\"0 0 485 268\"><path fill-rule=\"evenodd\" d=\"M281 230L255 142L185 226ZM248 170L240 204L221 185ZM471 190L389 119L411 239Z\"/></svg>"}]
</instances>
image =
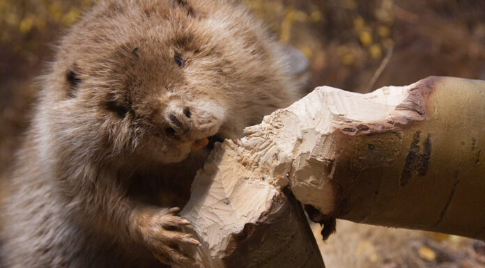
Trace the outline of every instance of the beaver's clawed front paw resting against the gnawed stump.
<instances>
[{"instance_id":1,"label":"beaver's clawed front paw resting against the gnawed stump","mask_svg":"<svg viewBox=\"0 0 485 268\"><path fill-rule=\"evenodd\" d=\"M190 225L190 221L180 216L178 207L161 210L151 214L141 228L144 243L155 258L167 265L193 263L194 260L183 253L180 246L200 246L192 235L181 231L182 226Z\"/></svg>"}]
</instances>

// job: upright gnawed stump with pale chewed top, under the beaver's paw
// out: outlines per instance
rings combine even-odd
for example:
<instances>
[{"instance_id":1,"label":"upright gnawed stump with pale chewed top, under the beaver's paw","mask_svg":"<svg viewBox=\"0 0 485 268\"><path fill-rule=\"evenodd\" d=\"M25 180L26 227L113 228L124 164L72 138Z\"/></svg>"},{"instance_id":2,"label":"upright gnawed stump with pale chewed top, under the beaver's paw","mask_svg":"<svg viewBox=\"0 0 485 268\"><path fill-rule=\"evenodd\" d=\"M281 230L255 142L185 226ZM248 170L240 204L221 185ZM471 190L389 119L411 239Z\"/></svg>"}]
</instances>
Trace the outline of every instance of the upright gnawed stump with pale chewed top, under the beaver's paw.
<instances>
[{"instance_id":1,"label":"upright gnawed stump with pale chewed top, under the beaver's paw","mask_svg":"<svg viewBox=\"0 0 485 268\"><path fill-rule=\"evenodd\" d=\"M181 214L201 246L189 267L325 267L300 203L236 161L239 149L216 145L192 184Z\"/></svg>"}]
</instances>

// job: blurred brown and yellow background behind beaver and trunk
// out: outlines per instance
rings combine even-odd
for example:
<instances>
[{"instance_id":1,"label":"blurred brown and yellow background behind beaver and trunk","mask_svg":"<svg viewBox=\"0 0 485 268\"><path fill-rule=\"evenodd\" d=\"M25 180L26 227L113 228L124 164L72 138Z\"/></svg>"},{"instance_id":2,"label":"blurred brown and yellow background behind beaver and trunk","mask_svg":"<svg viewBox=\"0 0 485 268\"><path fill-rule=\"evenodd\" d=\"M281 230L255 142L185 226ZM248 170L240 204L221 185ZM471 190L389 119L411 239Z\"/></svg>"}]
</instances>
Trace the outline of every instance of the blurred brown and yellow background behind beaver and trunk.
<instances>
[{"instance_id":1,"label":"blurred brown and yellow background behind beaver and trunk","mask_svg":"<svg viewBox=\"0 0 485 268\"><path fill-rule=\"evenodd\" d=\"M485 80L485 0L240 0L309 58L314 86L367 93L429 75ZM0 180L29 122L35 77L95 0L0 0ZM317 235L318 226L314 227ZM463 237L339 221L329 268L485 267Z\"/></svg>"}]
</instances>

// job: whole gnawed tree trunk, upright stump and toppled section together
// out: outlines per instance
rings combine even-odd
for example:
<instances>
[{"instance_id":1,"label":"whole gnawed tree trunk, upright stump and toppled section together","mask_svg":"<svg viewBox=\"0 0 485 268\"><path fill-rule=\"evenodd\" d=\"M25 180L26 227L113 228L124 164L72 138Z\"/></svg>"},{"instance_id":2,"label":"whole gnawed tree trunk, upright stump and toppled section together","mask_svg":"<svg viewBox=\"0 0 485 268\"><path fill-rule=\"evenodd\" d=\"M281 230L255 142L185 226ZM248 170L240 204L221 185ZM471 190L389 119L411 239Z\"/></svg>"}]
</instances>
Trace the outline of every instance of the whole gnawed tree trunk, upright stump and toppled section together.
<instances>
[{"instance_id":1,"label":"whole gnawed tree trunk, upright stump and toppled section together","mask_svg":"<svg viewBox=\"0 0 485 268\"><path fill-rule=\"evenodd\" d=\"M340 219L485 239L485 81L321 87L245 134L213 152L182 212L201 267L323 267L284 187Z\"/></svg>"}]
</instances>

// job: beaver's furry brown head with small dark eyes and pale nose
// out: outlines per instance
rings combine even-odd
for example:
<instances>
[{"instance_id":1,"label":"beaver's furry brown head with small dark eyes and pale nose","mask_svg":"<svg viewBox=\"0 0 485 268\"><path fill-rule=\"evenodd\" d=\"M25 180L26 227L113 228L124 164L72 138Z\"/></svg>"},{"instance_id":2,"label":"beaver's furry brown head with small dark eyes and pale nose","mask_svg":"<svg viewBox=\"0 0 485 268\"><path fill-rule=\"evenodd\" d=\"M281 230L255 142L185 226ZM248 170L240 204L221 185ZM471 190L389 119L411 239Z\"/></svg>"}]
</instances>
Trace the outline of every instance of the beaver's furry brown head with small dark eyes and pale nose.
<instances>
[{"instance_id":1,"label":"beaver's furry brown head with small dark eyes and pale nose","mask_svg":"<svg viewBox=\"0 0 485 268\"><path fill-rule=\"evenodd\" d=\"M279 49L233 3L107 1L61 43L47 81L56 128L109 156L181 161L295 100Z\"/></svg>"}]
</instances>

